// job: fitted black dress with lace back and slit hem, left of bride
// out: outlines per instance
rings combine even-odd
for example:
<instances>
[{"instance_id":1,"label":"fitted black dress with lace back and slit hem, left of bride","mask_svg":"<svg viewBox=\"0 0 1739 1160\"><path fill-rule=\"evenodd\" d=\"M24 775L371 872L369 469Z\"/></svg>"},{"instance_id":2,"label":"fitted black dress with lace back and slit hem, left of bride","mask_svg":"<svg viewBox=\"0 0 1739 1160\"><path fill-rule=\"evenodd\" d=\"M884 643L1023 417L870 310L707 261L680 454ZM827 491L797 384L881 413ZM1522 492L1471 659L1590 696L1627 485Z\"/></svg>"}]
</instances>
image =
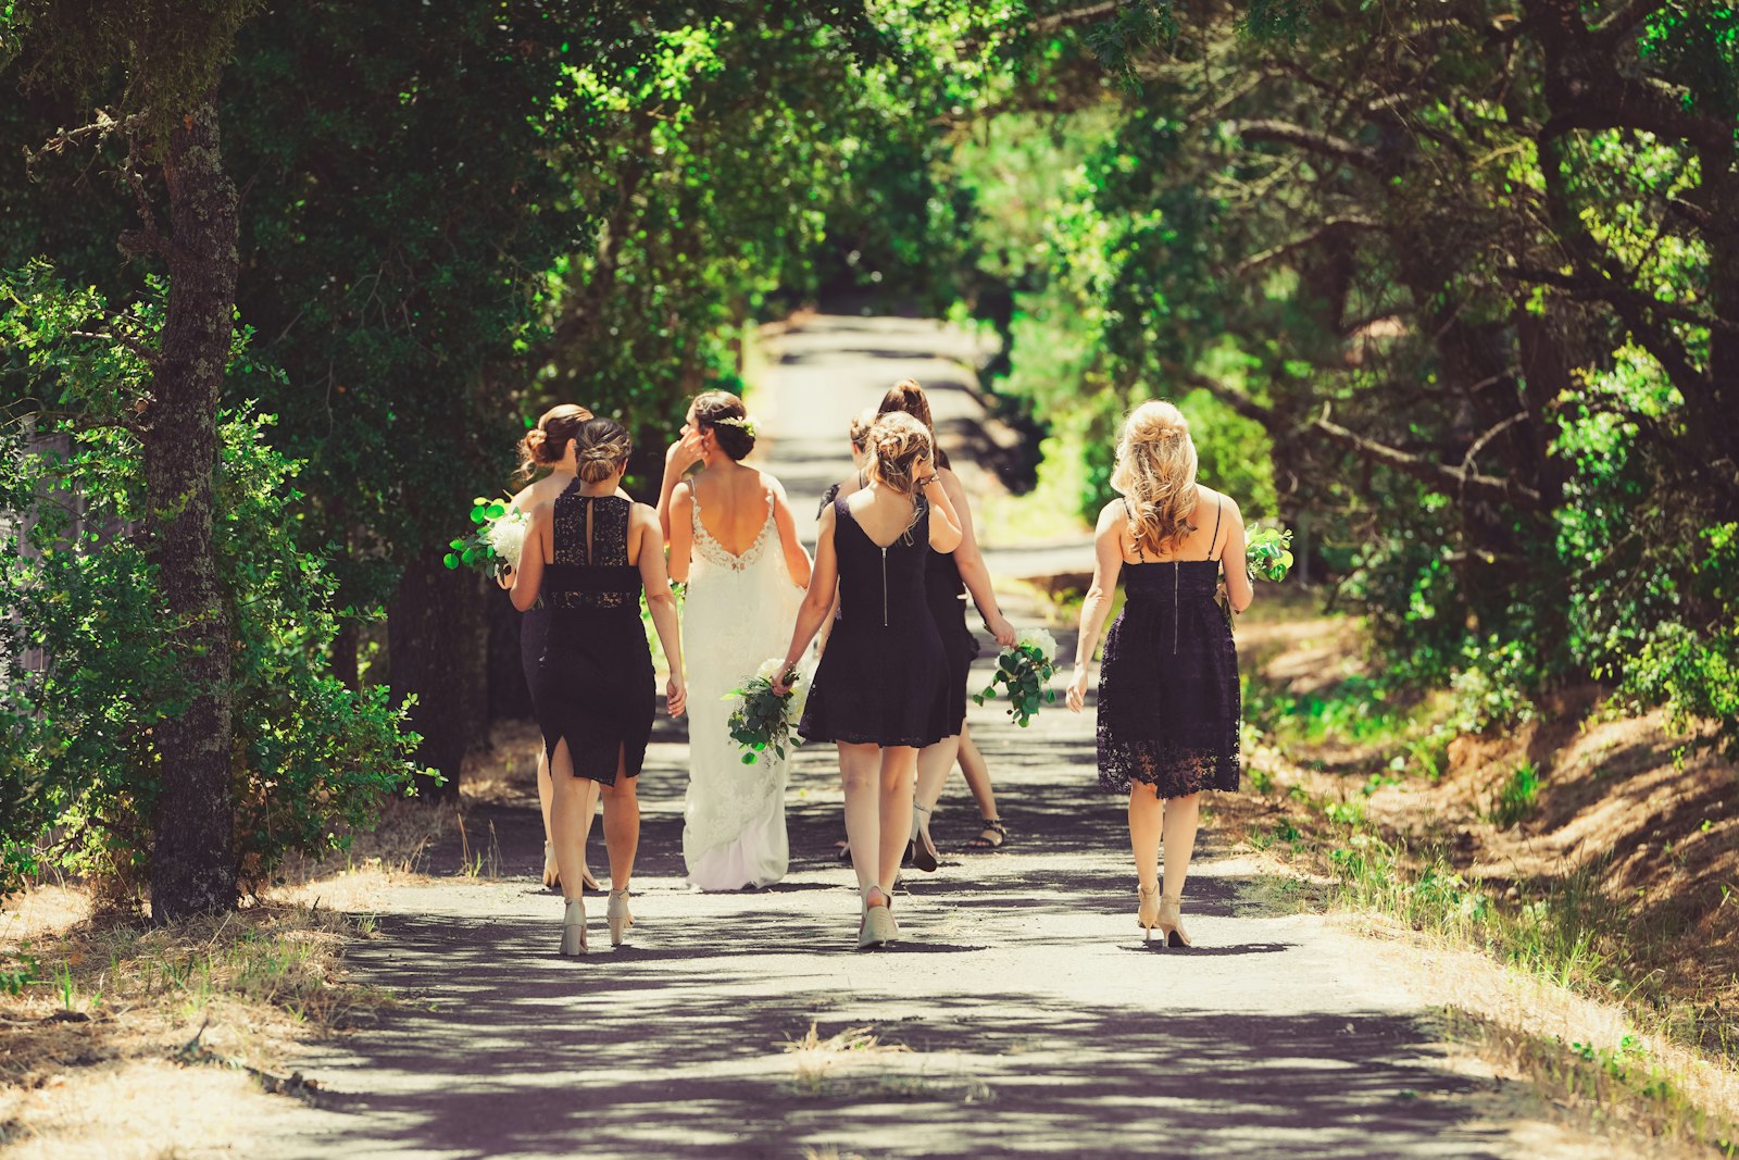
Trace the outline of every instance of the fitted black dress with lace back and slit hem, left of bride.
<instances>
[{"instance_id":1,"label":"fitted black dress with lace back and slit hem, left of bride","mask_svg":"<svg viewBox=\"0 0 1739 1160\"><path fill-rule=\"evenodd\" d=\"M628 513L619 496L555 501L555 563L544 567L550 631L532 682L532 704L555 758L567 739L574 776L616 784L645 763L657 699L652 650L640 624L640 569L628 563Z\"/></svg>"}]
</instances>

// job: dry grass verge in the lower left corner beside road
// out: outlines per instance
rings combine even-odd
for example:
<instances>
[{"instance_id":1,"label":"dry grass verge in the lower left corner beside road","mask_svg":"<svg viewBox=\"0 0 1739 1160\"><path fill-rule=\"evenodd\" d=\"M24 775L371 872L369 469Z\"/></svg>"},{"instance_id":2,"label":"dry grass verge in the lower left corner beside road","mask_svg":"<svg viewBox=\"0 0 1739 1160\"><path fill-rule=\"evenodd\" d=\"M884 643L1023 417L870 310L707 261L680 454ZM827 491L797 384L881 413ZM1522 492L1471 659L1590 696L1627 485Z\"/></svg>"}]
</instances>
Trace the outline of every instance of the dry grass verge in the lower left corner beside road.
<instances>
[{"instance_id":1,"label":"dry grass verge in the lower left corner beside road","mask_svg":"<svg viewBox=\"0 0 1739 1160\"><path fill-rule=\"evenodd\" d=\"M367 1026L391 995L344 977L383 892L416 880L457 817L393 802L323 859L290 859L240 910L153 927L43 883L0 911L0 1148L7 1157L247 1151L280 1104L318 1099L303 1045ZM3 986L16 983L16 991Z\"/></svg>"}]
</instances>

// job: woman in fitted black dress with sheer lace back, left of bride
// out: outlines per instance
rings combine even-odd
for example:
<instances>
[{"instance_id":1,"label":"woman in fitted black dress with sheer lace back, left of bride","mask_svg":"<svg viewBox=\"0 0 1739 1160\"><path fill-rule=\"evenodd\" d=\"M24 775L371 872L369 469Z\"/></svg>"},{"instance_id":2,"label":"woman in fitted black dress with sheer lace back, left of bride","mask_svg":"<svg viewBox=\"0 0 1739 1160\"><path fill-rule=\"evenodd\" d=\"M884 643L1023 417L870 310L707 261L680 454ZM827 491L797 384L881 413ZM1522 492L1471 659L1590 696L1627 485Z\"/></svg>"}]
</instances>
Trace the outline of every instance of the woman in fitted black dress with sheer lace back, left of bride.
<instances>
[{"instance_id":1,"label":"woman in fitted black dress with sheer lace back, left of bride","mask_svg":"<svg viewBox=\"0 0 1739 1160\"><path fill-rule=\"evenodd\" d=\"M631 450L628 431L610 419L579 426L560 461L574 482L553 503L532 510L513 577L513 607L530 609L539 593L550 605L550 643L537 664L532 703L553 783L550 824L567 899L563 955L586 953L581 837L588 783L603 793L610 946L621 946L635 922L628 911L628 880L640 845L635 777L652 734L656 683L640 626L642 591L670 659L664 697L671 717L687 699L657 513L617 494Z\"/></svg>"}]
</instances>

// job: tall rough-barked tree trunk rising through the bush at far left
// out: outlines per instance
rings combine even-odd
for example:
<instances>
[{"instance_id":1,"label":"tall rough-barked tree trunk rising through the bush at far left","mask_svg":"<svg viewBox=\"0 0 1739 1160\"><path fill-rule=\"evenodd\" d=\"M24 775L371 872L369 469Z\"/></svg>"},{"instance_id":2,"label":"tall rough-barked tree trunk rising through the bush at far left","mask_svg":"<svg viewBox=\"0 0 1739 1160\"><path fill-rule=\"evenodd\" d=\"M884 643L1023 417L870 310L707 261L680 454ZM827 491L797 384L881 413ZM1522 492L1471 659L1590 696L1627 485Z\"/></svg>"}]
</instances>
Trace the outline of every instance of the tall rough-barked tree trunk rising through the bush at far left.
<instances>
[{"instance_id":1,"label":"tall rough-barked tree trunk rising through the bush at far left","mask_svg":"<svg viewBox=\"0 0 1739 1160\"><path fill-rule=\"evenodd\" d=\"M212 557L217 395L230 360L237 282L237 195L207 99L170 130L163 177L172 237L169 310L146 412L144 480L151 560L169 607L167 643L188 708L157 725L162 790L151 850L158 922L235 906L230 800L230 621Z\"/></svg>"}]
</instances>

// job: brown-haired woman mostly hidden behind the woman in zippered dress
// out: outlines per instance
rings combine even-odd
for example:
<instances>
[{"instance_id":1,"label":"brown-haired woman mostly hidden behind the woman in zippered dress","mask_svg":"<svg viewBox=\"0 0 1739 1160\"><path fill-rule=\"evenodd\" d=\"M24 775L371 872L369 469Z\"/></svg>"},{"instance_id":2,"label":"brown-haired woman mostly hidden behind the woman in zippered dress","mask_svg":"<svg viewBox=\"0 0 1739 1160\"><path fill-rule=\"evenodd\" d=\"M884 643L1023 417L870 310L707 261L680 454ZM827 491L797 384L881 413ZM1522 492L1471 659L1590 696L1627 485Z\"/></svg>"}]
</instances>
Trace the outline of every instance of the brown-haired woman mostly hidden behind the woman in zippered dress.
<instances>
[{"instance_id":1,"label":"brown-haired woman mostly hidden behind the woman in zippered dress","mask_svg":"<svg viewBox=\"0 0 1739 1160\"><path fill-rule=\"evenodd\" d=\"M880 410L882 414L904 412L922 423L930 431L932 440L936 438L930 400L915 379L901 379L889 388ZM972 657L979 650L972 630L967 628L967 591L972 593L972 602L977 605L979 616L984 617L984 628L996 638L996 643L1003 649L1014 643L1014 624L996 605L989 569L984 567L984 555L972 534L972 506L967 503L967 492L960 485L960 477L948 466L948 456L941 450L936 452L936 466L943 490L948 492L948 499L960 517L962 537L960 546L951 553L932 551L923 569L930 616L936 617L936 630L943 635L943 647L948 652L948 689L944 690L948 736L918 755L918 783L911 800L911 864L923 871L934 871L937 866L936 842L930 840L930 810L943 797L943 786L948 783L955 760L960 760L969 784L974 783L972 774L979 774L983 781L983 793L977 784L972 784L972 797L979 803L983 819L981 842L1002 845L1007 833L996 814L996 797L989 790L989 770L967 729L967 683L972 680Z\"/></svg>"}]
</instances>

